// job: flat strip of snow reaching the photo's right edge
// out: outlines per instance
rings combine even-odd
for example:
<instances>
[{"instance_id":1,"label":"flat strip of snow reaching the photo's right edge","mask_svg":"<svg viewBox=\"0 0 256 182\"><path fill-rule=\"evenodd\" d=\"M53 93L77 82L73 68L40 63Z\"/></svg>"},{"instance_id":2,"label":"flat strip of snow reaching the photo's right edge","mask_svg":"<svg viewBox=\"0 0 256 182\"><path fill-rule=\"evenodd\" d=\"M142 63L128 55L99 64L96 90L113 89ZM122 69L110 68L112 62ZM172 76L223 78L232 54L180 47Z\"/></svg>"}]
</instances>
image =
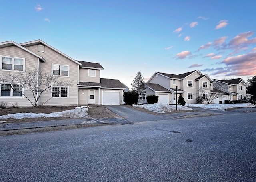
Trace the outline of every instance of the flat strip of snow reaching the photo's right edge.
<instances>
[{"instance_id":1,"label":"flat strip of snow reaching the photo's right edge","mask_svg":"<svg viewBox=\"0 0 256 182\"><path fill-rule=\"evenodd\" d=\"M229 108L254 108L256 107L251 103L244 104L186 104L188 107L197 107L205 109L214 109L214 110L227 110Z\"/></svg>"}]
</instances>

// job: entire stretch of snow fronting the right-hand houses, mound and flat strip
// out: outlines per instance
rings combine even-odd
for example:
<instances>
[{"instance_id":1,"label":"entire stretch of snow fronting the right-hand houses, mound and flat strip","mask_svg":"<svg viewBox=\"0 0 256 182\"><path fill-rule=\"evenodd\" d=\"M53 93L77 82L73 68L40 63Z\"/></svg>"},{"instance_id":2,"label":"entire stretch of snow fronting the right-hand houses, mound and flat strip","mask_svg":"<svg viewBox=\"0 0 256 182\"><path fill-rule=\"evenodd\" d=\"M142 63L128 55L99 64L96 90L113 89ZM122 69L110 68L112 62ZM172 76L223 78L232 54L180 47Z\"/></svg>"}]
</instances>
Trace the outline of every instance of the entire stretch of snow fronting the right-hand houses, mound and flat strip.
<instances>
[{"instance_id":1,"label":"entire stretch of snow fronting the right-hand houses, mound and flat strip","mask_svg":"<svg viewBox=\"0 0 256 182\"><path fill-rule=\"evenodd\" d=\"M176 105L164 105L164 104L143 104L143 105L133 105L134 107L144 108L153 112L165 113L176 111ZM177 106L177 110L192 110L190 107L205 108L205 109L214 109L214 110L227 110L229 108L254 108L254 104L186 104L185 106Z\"/></svg>"}]
</instances>

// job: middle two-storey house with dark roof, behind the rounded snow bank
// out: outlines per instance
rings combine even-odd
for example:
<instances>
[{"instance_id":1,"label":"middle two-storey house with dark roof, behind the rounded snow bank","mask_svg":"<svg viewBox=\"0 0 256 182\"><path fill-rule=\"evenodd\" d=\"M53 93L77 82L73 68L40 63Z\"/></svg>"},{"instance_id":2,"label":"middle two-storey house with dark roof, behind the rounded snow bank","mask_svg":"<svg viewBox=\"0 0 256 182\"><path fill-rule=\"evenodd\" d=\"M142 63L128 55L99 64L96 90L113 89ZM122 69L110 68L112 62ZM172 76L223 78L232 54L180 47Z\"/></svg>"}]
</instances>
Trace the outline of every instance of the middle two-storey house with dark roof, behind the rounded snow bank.
<instances>
[{"instance_id":1,"label":"middle two-storey house with dark roof, behind the rounded snow bank","mask_svg":"<svg viewBox=\"0 0 256 182\"><path fill-rule=\"evenodd\" d=\"M158 95L159 103L176 104L176 99L182 95L186 103L196 103L197 96L208 97L211 94L213 82L208 75L203 75L198 70L178 75L155 72L145 83L145 98L148 95ZM176 86L178 86L177 96Z\"/></svg>"}]
</instances>

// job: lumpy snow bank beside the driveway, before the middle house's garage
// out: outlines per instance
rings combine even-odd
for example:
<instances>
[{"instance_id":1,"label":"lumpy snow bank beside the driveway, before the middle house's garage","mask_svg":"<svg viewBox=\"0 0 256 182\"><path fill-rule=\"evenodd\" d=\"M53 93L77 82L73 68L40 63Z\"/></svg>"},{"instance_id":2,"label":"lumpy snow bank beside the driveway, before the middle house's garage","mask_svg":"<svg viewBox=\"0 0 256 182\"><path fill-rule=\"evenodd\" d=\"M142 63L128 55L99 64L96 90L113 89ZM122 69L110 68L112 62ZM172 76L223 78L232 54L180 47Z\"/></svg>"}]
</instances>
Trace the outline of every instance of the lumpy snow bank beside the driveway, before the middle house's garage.
<instances>
[{"instance_id":1,"label":"lumpy snow bank beside the driveway, before the middle house's garage","mask_svg":"<svg viewBox=\"0 0 256 182\"><path fill-rule=\"evenodd\" d=\"M143 105L132 105L134 107L144 108L146 110L150 110L157 113L165 113L165 112L172 112L176 111L176 105L165 105L160 103L154 103L154 104L143 104ZM177 106L177 110L192 110L191 108L188 108L187 106Z\"/></svg>"}]
</instances>

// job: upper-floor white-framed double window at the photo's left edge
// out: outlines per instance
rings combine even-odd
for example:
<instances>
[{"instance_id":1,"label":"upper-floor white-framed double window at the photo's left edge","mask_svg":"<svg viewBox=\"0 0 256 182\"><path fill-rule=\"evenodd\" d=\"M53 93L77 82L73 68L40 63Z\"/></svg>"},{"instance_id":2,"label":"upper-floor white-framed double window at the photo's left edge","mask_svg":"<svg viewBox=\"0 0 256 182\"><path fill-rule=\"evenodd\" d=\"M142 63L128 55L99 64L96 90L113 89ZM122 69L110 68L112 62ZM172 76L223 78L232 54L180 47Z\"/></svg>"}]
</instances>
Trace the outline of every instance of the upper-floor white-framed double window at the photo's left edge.
<instances>
[{"instance_id":1,"label":"upper-floor white-framed double window at the photo's left edge","mask_svg":"<svg viewBox=\"0 0 256 182\"><path fill-rule=\"evenodd\" d=\"M24 70L24 58L17 57L6 57L0 56L1 58L1 69L2 70L16 70L23 71Z\"/></svg>"}]
</instances>

